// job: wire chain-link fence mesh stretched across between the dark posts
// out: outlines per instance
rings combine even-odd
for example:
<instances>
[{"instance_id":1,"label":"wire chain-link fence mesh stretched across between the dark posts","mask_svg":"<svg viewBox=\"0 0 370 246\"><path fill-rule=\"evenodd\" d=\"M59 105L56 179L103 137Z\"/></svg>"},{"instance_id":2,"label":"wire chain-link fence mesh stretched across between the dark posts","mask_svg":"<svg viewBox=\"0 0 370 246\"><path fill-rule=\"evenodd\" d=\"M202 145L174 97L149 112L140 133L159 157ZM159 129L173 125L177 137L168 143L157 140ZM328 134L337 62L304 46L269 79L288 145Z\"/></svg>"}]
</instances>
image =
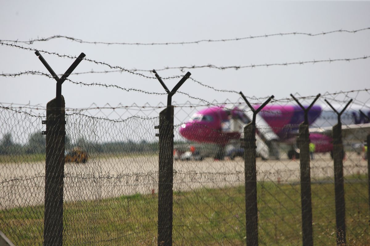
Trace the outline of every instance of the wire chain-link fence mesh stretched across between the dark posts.
<instances>
[{"instance_id":1,"label":"wire chain-link fence mesh stretched across between the dark posts","mask_svg":"<svg viewBox=\"0 0 370 246\"><path fill-rule=\"evenodd\" d=\"M337 239L348 245L369 245L366 137L370 107L357 100L358 95L338 93L316 101L307 115L310 136L306 150L298 138L305 115L291 98L273 100L256 114L257 134L250 138L244 128L252 121L253 112L241 98L212 104L173 103L173 148L169 142L159 143L164 132L172 139L160 122L160 111L166 108L162 104L65 108L65 124L55 115L51 119L40 105L3 104L0 230L15 245L41 245L46 232L53 240L63 238L63 245L161 245L158 233L168 226L173 245L245 245L253 236L250 219L258 223L260 245L302 245L310 234L314 245L335 245ZM314 99L295 97L306 108ZM339 112L353 99L341 116L341 143L334 141L331 130L337 115L324 99ZM253 103L256 109L263 101ZM48 125L56 121L63 127ZM56 147L48 150L47 140L55 139L59 139ZM340 144L343 151L334 151ZM60 153L58 146L62 145ZM255 146L253 159L248 146ZM171 158L161 157L161 151L167 157L170 151ZM58 154L63 160L55 157ZM173 159L171 173L161 169L161 158L166 163ZM341 179L334 179L333 159L343 163L342 196L337 194ZM308 162L308 183L301 179L303 160ZM46 163L55 164L50 175ZM251 199L246 188L253 182L248 165L253 163L256 215L246 209ZM55 185L60 178L57 169L62 172L62 183ZM166 205L158 205L163 195L158 194L158 186L169 185L166 180L160 182L161 172L173 179L172 214L161 213L158 207ZM309 187L310 209L302 207L307 204L301 201L302 186ZM59 192L61 188L63 196L46 187ZM345 228L337 233L340 214L336 211L343 210L337 200L341 197ZM51 200L56 200L52 206L61 204L63 210L47 208ZM307 211L311 216L308 222ZM62 231L55 230L60 226L58 220ZM171 225L159 228L160 220ZM312 233L307 235L302 221L312 226Z\"/></svg>"}]
</instances>

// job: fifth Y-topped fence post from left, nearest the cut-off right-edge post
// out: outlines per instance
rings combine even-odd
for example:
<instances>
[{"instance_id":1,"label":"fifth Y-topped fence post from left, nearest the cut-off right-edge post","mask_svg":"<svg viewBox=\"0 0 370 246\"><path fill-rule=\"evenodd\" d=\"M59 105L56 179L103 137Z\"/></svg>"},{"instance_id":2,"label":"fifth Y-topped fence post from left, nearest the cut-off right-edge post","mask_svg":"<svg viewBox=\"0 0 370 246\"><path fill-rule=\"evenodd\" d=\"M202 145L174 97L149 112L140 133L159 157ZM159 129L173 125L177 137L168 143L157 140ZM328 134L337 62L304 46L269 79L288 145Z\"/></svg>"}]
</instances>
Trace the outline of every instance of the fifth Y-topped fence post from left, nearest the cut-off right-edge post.
<instances>
[{"instance_id":1,"label":"fifth Y-topped fence post from left, nearest the cut-off right-edge post","mask_svg":"<svg viewBox=\"0 0 370 246\"><path fill-rule=\"evenodd\" d=\"M336 112L338 123L333 126L333 160L334 160L334 191L335 191L335 221L337 226L337 245L346 243L346 206L344 202L344 177L343 177L343 141L342 141L342 122L340 117L344 110L352 102L347 103L346 107L339 113L326 99L326 103Z\"/></svg>"}]
</instances>

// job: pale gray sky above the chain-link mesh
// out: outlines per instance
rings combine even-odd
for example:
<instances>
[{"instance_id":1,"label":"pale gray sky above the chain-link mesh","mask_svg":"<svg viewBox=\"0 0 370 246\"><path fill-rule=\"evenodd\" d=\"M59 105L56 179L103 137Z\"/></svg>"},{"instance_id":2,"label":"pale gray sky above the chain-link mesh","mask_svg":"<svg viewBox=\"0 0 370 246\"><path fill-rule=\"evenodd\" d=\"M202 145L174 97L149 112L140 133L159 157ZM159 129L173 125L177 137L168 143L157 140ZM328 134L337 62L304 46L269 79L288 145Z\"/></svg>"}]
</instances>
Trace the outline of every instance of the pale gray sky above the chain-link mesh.
<instances>
[{"instance_id":1,"label":"pale gray sky above the chain-link mesh","mask_svg":"<svg viewBox=\"0 0 370 246\"><path fill-rule=\"evenodd\" d=\"M3 1L0 9L0 39L29 40L65 35L100 42L187 42L200 39L229 39L256 35L370 27L370 1ZM370 30L334 33L317 37L276 36L230 42L186 45L94 45L66 39L18 44L59 54L106 62L127 69L161 69L166 66L243 66L323 59L356 58L370 55ZM33 51L0 46L1 73L26 70L47 72ZM56 73L64 73L72 59L43 54ZM159 75L182 75L186 71L217 89L243 91L246 96L276 98L290 93L302 96L326 91L369 88L370 59L351 62L316 63L253 69L171 69ZM108 66L82 61L74 72L110 70ZM151 73L142 72L153 76ZM127 72L71 75L85 83L116 84L151 92L164 92L155 79ZM170 89L179 79L165 80ZM55 97L55 80L44 76L0 77L0 102L41 104ZM191 80L179 89L208 101L237 101L238 94L219 93ZM65 82L62 94L66 106L157 105L166 96L126 92L119 89L86 87ZM366 101L369 94L364 98ZM192 100L176 94L174 100Z\"/></svg>"}]
</instances>

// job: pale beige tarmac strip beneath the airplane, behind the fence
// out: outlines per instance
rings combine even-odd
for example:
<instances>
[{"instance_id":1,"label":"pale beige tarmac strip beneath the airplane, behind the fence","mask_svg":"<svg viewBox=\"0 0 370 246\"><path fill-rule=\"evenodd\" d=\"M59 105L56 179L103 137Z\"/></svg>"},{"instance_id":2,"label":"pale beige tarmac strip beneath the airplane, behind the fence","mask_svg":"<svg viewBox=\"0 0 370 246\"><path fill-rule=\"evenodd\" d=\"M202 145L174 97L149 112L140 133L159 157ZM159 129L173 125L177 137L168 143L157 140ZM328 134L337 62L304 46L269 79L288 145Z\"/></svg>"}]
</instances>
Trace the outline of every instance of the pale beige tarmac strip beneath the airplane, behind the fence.
<instances>
[{"instance_id":1,"label":"pale beige tarmac strip beneath the airplane, behind the fence","mask_svg":"<svg viewBox=\"0 0 370 246\"><path fill-rule=\"evenodd\" d=\"M0 164L0 209L44 203L45 163ZM311 160L312 182L334 179L329 154ZM300 180L299 160L257 159L257 179L281 183ZM344 161L344 175L367 173L367 161L355 153ZM93 158L87 163L66 163L64 201L95 200L135 193L158 192L158 157ZM244 183L241 158L215 161L174 161L174 191L238 186Z\"/></svg>"}]
</instances>

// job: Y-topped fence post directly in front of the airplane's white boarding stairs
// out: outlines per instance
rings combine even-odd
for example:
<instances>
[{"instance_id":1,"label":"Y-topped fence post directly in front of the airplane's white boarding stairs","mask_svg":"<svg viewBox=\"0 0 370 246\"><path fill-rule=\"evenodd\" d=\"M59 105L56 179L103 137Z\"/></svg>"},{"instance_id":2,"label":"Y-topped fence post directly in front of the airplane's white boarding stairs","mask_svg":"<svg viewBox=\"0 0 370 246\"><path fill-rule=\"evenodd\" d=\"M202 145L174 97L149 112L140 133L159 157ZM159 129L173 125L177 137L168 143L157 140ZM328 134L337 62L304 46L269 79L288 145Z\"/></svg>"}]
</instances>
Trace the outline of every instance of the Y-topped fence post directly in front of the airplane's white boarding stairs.
<instances>
[{"instance_id":1,"label":"Y-topped fence post directly in front of the airplane's white boarding stairs","mask_svg":"<svg viewBox=\"0 0 370 246\"><path fill-rule=\"evenodd\" d=\"M253 112L253 119L244 127L244 175L245 175L245 220L246 220L246 245L258 245L258 208L257 208L257 171L256 171L256 114L271 101L271 96L257 110L248 102L240 91L240 95Z\"/></svg>"}]
</instances>

